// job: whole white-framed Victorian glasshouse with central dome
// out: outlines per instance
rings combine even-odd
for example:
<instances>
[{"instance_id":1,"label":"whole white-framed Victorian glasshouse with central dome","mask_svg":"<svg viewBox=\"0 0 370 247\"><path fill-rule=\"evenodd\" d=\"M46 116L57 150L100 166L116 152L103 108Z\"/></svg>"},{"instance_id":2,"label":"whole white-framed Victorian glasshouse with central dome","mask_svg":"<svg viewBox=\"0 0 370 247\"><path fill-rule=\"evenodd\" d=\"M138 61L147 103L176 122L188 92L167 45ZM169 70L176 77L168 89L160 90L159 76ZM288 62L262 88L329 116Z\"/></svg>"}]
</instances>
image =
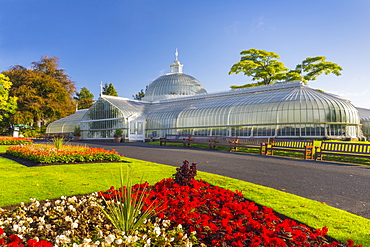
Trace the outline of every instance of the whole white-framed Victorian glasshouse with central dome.
<instances>
[{"instance_id":1,"label":"whole white-framed Victorian glasshouse with central dome","mask_svg":"<svg viewBox=\"0 0 370 247\"><path fill-rule=\"evenodd\" d=\"M177 58L170 67L171 73L154 80L142 100L101 95L90 109L49 124L47 133L72 133L80 126L85 140L113 139L117 129L123 130L125 141L166 134L365 138L355 106L301 82L207 93L197 79L182 72Z\"/></svg>"}]
</instances>

